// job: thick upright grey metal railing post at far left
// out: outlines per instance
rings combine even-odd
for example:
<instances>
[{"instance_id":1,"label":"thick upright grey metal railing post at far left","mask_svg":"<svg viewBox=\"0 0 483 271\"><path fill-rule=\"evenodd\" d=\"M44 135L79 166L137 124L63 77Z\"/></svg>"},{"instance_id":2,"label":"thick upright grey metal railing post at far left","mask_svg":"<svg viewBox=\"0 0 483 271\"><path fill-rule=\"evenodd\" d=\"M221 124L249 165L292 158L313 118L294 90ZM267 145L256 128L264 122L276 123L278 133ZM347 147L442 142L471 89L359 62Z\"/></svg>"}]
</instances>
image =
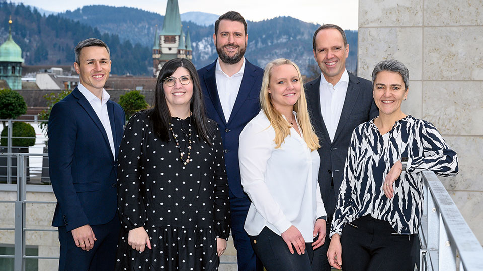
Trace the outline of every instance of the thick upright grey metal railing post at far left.
<instances>
[{"instance_id":1,"label":"thick upright grey metal railing post at far left","mask_svg":"<svg viewBox=\"0 0 483 271\"><path fill-rule=\"evenodd\" d=\"M15 201L15 244L14 244L14 270L24 271L25 269L25 196L26 172L24 160L25 156L17 154L17 200Z\"/></svg>"}]
</instances>

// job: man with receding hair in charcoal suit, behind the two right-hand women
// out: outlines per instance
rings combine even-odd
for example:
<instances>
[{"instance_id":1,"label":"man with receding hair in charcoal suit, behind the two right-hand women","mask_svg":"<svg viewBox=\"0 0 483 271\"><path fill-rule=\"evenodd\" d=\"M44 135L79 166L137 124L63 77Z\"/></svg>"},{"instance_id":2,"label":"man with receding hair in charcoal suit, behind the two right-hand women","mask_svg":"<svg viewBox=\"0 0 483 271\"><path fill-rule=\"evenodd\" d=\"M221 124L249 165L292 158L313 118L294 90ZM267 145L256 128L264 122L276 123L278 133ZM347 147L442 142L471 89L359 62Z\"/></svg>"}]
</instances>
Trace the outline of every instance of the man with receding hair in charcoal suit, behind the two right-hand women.
<instances>
[{"instance_id":1,"label":"man with receding hair in charcoal suit, behind the two right-hand women","mask_svg":"<svg viewBox=\"0 0 483 271\"><path fill-rule=\"evenodd\" d=\"M343 168L352 132L377 116L372 83L346 70L349 44L339 26L320 26L313 35L313 56L322 74L305 85L308 109L319 137L318 182L327 213L325 243L314 251L312 270L330 270L327 261L329 230L342 183Z\"/></svg>"}]
</instances>

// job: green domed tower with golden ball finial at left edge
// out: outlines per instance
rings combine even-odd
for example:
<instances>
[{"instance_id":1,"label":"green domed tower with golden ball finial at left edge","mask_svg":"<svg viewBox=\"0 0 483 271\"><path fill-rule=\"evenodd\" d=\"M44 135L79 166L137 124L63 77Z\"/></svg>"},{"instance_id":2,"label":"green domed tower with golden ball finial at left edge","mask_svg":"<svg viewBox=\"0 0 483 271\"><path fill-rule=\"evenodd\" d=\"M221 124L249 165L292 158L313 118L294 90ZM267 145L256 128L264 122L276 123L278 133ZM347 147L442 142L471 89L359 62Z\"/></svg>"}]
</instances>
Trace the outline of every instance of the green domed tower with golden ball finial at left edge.
<instances>
[{"instance_id":1,"label":"green domed tower with golden ball finial at left edge","mask_svg":"<svg viewBox=\"0 0 483 271\"><path fill-rule=\"evenodd\" d=\"M22 89L22 49L12 39L12 17L9 19L9 38L0 45L0 80L11 89Z\"/></svg>"}]
</instances>

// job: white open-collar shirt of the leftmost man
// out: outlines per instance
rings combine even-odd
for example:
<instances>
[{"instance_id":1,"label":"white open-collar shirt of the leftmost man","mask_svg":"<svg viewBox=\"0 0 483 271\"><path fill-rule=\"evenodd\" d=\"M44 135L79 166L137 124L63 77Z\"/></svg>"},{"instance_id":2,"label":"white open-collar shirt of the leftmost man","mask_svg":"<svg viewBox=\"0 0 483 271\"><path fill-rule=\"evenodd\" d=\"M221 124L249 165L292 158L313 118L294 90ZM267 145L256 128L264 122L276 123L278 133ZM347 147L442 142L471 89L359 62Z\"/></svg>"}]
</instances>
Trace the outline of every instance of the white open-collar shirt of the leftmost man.
<instances>
[{"instance_id":1,"label":"white open-collar shirt of the leftmost man","mask_svg":"<svg viewBox=\"0 0 483 271\"><path fill-rule=\"evenodd\" d=\"M104 130L107 134L107 139L109 140L109 146L111 147L112 156L116 158L116 150L114 149L114 139L112 137L111 122L109 121L109 114L107 112L107 101L111 97L109 93L103 88L102 89L102 100L100 100L96 95L92 94L91 91L87 90L81 83L77 86L82 95L87 99L89 104L91 104L92 109L96 112L97 117L102 123Z\"/></svg>"}]
</instances>

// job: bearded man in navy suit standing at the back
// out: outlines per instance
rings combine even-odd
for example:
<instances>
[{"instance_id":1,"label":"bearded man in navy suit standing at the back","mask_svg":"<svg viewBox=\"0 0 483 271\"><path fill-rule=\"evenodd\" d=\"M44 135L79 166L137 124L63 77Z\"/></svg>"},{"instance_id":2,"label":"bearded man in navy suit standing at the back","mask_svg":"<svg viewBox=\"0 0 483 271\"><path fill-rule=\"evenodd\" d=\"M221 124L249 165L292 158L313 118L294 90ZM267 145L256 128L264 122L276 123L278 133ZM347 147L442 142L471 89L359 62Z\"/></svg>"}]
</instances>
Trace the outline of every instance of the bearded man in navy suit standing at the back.
<instances>
[{"instance_id":1,"label":"bearded man in navy suit standing at the back","mask_svg":"<svg viewBox=\"0 0 483 271\"><path fill-rule=\"evenodd\" d=\"M208 117L218 122L225 154L230 194L231 235L238 270L263 270L243 229L250 200L243 192L238 164L241 130L260 112L263 70L244 58L248 34L245 19L229 11L215 22L213 40L218 59L198 70Z\"/></svg>"}]
</instances>

